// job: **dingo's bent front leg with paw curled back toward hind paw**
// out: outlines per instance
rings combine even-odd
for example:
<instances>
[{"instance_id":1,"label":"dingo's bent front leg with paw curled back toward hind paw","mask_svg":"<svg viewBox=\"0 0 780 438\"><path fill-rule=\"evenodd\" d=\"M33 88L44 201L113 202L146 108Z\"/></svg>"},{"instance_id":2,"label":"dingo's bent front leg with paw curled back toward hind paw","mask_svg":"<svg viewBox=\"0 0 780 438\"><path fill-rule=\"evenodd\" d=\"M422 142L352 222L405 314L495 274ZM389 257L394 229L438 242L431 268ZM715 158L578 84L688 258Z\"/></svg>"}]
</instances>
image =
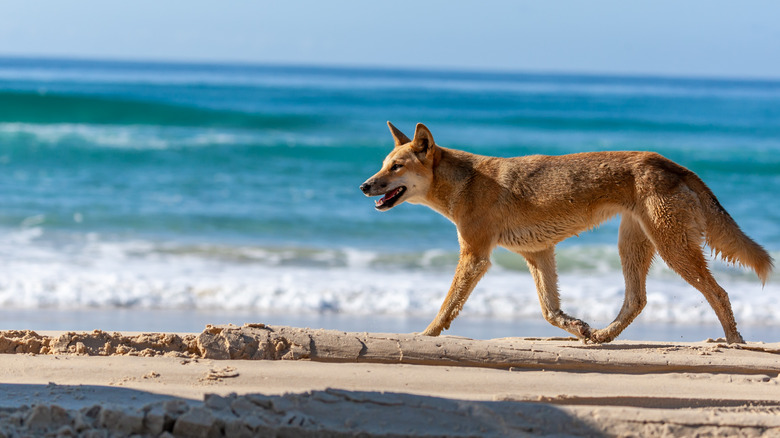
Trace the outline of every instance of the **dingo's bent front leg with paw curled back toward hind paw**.
<instances>
[{"instance_id":1,"label":"dingo's bent front leg with paw curled back toward hind paw","mask_svg":"<svg viewBox=\"0 0 780 438\"><path fill-rule=\"evenodd\" d=\"M583 341L590 339L588 324L561 311L558 273L555 268L555 249L548 248L533 253L521 252L520 255L528 263L528 269L531 271L534 283L536 283L536 292L539 294L539 304L542 306L544 319Z\"/></svg>"}]
</instances>

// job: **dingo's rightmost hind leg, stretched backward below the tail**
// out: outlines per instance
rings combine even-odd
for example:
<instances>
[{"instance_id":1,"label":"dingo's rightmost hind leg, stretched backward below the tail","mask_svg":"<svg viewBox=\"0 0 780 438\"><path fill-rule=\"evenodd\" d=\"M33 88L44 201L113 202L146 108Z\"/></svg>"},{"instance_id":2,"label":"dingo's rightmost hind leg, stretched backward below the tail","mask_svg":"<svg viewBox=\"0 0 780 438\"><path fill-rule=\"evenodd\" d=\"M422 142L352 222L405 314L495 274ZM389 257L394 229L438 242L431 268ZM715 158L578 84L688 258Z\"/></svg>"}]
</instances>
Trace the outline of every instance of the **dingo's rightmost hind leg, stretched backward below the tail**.
<instances>
[{"instance_id":1,"label":"dingo's rightmost hind leg, stretched backward below the tail","mask_svg":"<svg viewBox=\"0 0 780 438\"><path fill-rule=\"evenodd\" d=\"M703 228L695 220L696 208L667 209L662 220L645 222L660 256L672 270L704 295L718 316L728 343L744 343L725 290L715 281L702 252ZM660 216L660 215L659 215Z\"/></svg>"}]
</instances>

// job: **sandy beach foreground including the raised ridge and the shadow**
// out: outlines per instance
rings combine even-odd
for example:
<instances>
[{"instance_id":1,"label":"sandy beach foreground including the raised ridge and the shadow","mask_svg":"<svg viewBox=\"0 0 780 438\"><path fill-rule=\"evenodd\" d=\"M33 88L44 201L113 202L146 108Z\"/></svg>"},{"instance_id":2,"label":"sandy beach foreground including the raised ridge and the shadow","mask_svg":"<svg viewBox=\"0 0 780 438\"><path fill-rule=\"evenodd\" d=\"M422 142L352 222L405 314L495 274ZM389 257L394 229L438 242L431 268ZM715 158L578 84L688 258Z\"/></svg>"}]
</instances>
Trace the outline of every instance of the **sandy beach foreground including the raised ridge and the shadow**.
<instances>
[{"instance_id":1,"label":"sandy beach foreground including the raised ridge and the shadow","mask_svg":"<svg viewBox=\"0 0 780 438\"><path fill-rule=\"evenodd\" d=\"M6 331L0 353L0 437L780 436L780 344L257 324Z\"/></svg>"}]
</instances>

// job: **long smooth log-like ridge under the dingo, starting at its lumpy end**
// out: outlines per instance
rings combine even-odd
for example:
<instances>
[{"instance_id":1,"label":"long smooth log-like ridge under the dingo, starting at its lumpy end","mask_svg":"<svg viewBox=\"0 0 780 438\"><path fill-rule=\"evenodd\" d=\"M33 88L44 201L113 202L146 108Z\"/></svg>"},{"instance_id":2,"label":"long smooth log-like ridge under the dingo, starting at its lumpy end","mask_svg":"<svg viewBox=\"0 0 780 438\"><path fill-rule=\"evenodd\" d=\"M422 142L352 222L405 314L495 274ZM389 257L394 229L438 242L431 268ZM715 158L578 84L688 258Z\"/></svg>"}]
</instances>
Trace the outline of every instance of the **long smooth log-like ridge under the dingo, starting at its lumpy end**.
<instances>
[{"instance_id":1,"label":"long smooth log-like ridge under the dingo, starting at its lumpy end","mask_svg":"<svg viewBox=\"0 0 780 438\"><path fill-rule=\"evenodd\" d=\"M199 355L212 359L308 359L550 370L621 372L778 373L780 350L722 343L621 342L584 345L572 339L473 340L415 334L349 333L247 324L209 326L196 339ZM637 354L639 353L639 354Z\"/></svg>"}]
</instances>

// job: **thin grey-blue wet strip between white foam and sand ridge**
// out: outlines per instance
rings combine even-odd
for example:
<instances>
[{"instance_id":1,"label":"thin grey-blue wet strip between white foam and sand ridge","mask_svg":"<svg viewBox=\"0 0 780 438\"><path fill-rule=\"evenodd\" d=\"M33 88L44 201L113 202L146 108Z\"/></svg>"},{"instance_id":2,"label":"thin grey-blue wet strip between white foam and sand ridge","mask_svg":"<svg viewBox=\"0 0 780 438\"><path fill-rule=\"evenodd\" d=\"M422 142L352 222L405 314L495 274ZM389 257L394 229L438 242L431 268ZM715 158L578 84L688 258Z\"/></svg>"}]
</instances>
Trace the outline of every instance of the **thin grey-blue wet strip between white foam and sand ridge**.
<instances>
[{"instance_id":1,"label":"thin grey-blue wet strip between white foam and sand ridge","mask_svg":"<svg viewBox=\"0 0 780 438\"><path fill-rule=\"evenodd\" d=\"M432 317L432 316L431 316ZM265 322L271 325L321 328L350 332L413 333L425 328L429 316L352 315L339 313L290 314L278 312L229 310L171 310L137 308L11 308L0 309L0 331L92 331L135 332L138 327L153 332L197 333L207 324L244 324ZM739 321L738 321L739 322ZM592 326L609 321L596 321ZM780 342L780 327L774 325L739 325L748 342ZM550 325L541 314L537 318L486 318L461 315L443 334L472 339L503 337L560 337L565 331ZM698 342L723 336L717 322L711 324L669 324L644 322L642 315L621 333L617 340Z\"/></svg>"}]
</instances>

